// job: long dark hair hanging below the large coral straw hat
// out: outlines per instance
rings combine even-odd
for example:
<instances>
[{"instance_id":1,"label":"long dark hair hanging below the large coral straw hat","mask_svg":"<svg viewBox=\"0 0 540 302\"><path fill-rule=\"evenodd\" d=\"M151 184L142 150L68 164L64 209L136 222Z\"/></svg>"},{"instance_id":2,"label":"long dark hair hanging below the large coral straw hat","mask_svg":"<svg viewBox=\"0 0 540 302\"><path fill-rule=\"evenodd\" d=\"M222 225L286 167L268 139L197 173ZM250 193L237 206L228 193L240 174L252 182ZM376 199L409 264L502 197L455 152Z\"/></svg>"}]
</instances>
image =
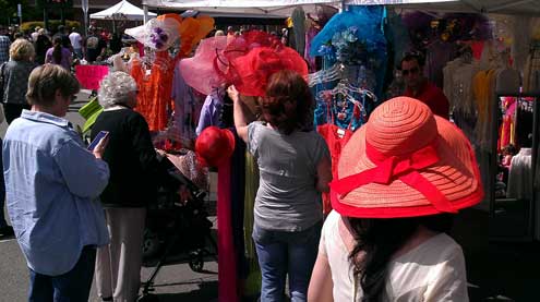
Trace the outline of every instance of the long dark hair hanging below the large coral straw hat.
<instances>
[{"instance_id":1,"label":"long dark hair hanging below the large coral straw hat","mask_svg":"<svg viewBox=\"0 0 540 302\"><path fill-rule=\"evenodd\" d=\"M360 279L363 291L361 301L381 301L388 262L419 226L435 232L448 232L453 219L449 214L389 219L348 218L357 242L349 261L353 265L355 280ZM364 256L360 257L360 253Z\"/></svg>"}]
</instances>

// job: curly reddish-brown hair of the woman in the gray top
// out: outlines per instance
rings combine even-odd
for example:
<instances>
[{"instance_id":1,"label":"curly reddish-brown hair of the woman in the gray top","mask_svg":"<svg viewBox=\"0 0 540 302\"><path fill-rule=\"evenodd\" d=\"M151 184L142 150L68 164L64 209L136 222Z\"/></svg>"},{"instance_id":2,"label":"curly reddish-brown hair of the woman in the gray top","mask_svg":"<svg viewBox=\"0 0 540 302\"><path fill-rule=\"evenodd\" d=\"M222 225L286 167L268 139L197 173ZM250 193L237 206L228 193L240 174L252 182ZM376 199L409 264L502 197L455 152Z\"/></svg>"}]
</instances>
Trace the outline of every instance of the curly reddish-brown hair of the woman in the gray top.
<instances>
[{"instance_id":1,"label":"curly reddish-brown hair of the woman in the gray top","mask_svg":"<svg viewBox=\"0 0 540 302\"><path fill-rule=\"evenodd\" d=\"M283 70L269 76L261 109L264 120L289 135L313 116L313 96L299 73Z\"/></svg>"}]
</instances>

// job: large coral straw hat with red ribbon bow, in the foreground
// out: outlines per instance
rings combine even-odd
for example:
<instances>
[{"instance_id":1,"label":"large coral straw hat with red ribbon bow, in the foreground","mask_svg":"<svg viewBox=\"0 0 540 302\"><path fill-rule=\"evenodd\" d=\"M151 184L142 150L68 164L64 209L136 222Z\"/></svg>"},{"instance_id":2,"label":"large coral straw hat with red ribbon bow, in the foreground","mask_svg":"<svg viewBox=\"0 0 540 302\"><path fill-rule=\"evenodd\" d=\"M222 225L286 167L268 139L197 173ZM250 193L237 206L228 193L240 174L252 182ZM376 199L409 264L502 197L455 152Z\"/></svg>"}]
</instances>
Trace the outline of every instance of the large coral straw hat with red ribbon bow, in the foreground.
<instances>
[{"instance_id":1,"label":"large coral straw hat with red ribbon bow, in the foreground","mask_svg":"<svg viewBox=\"0 0 540 302\"><path fill-rule=\"evenodd\" d=\"M341 152L332 206L344 216L396 218L456 213L483 198L471 145L423 102L379 106Z\"/></svg>"}]
</instances>

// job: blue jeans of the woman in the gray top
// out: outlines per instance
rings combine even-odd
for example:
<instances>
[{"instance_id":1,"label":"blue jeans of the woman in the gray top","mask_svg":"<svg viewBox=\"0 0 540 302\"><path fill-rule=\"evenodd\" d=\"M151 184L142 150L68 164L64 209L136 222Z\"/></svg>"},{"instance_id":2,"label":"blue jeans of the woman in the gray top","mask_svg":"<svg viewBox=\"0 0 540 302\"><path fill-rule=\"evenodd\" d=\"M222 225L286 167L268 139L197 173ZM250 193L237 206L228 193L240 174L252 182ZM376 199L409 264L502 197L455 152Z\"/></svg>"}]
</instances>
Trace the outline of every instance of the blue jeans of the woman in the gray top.
<instances>
[{"instance_id":1,"label":"blue jeans of the woman in the gray top","mask_svg":"<svg viewBox=\"0 0 540 302\"><path fill-rule=\"evenodd\" d=\"M261 302L285 301L285 280L289 274L292 302L308 300L311 271L319 252L323 222L300 232L285 232L253 228L259 265L263 282Z\"/></svg>"}]
</instances>

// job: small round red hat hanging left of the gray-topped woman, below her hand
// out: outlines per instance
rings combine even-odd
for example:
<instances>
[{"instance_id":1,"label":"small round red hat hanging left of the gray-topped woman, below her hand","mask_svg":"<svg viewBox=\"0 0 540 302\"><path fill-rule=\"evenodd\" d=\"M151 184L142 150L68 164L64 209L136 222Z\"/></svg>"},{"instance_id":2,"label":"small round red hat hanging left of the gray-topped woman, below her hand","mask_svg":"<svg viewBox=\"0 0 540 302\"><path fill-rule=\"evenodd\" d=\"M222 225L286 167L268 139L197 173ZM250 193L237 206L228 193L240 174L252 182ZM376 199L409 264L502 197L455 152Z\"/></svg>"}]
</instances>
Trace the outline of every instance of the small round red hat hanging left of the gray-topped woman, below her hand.
<instances>
[{"instance_id":1,"label":"small round red hat hanging left of the gray-topped woman, below her hand","mask_svg":"<svg viewBox=\"0 0 540 302\"><path fill-rule=\"evenodd\" d=\"M219 167L235 150L235 134L215 125L205 128L195 141L195 153L203 166Z\"/></svg>"}]
</instances>

